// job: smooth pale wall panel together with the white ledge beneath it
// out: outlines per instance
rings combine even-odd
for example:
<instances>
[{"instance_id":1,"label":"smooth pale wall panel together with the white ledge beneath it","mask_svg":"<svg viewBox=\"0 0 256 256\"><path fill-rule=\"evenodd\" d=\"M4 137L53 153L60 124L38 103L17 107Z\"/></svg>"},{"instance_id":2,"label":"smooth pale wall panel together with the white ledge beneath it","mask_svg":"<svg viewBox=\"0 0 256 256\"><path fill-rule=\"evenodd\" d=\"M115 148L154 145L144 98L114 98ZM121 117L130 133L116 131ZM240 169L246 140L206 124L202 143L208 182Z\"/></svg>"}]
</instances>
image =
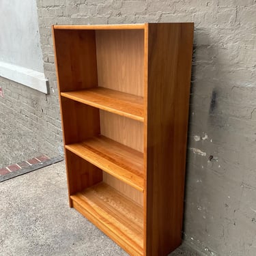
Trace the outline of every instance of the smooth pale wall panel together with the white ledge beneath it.
<instances>
[{"instance_id":1,"label":"smooth pale wall panel together with the white ledge beneath it","mask_svg":"<svg viewBox=\"0 0 256 256\"><path fill-rule=\"evenodd\" d=\"M0 0L0 17L0 76L46 93L36 1Z\"/></svg>"}]
</instances>

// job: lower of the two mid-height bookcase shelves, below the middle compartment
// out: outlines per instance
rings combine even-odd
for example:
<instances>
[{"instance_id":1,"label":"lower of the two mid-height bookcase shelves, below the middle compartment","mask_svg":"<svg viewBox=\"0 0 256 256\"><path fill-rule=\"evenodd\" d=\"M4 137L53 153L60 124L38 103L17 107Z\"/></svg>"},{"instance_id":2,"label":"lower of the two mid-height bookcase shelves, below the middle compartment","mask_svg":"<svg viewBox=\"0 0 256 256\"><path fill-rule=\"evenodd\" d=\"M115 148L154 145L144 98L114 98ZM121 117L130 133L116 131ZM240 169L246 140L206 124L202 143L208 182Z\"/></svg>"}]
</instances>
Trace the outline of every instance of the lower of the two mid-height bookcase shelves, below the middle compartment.
<instances>
[{"instance_id":1,"label":"lower of the two mid-height bookcase shelves, below the middle compartment","mask_svg":"<svg viewBox=\"0 0 256 256\"><path fill-rule=\"evenodd\" d=\"M65 147L106 173L143 192L143 153L102 135Z\"/></svg>"}]
</instances>

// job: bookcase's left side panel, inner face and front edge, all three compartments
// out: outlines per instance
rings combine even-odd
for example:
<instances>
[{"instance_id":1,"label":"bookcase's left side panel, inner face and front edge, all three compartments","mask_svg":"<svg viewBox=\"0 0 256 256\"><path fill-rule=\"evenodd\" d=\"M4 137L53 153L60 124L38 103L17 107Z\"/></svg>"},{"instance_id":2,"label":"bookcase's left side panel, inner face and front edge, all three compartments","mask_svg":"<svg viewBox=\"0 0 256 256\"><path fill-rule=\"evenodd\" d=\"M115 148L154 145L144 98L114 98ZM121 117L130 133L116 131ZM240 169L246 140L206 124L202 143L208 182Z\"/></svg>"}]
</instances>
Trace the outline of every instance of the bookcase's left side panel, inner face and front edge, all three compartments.
<instances>
[{"instance_id":1,"label":"bookcase's left side panel, inner face and front edge, all three compartments","mask_svg":"<svg viewBox=\"0 0 256 256\"><path fill-rule=\"evenodd\" d=\"M68 195L70 207L72 207L70 195L102 181L100 169L68 152L65 148L66 144L83 141L100 134L99 110L61 97L61 91L85 89L97 85L95 33L94 31L83 33L83 31L72 30L66 33L64 30L55 30L53 25L52 35Z\"/></svg>"}]
</instances>

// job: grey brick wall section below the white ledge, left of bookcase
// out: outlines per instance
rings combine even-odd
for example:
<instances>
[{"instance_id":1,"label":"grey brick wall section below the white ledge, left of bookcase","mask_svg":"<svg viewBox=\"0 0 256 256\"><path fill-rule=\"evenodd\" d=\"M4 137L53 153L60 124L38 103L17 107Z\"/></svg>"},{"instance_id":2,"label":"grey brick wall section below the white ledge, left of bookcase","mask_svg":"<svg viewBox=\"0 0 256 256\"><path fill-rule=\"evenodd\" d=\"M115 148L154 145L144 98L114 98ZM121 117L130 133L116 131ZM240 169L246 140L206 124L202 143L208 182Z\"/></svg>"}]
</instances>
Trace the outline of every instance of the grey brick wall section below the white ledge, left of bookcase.
<instances>
[{"instance_id":1,"label":"grey brick wall section below the white ledge, left of bookcase","mask_svg":"<svg viewBox=\"0 0 256 256\"><path fill-rule=\"evenodd\" d=\"M2 77L0 87L0 167L61 154L59 102L53 88L46 96Z\"/></svg>"}]
</instances>

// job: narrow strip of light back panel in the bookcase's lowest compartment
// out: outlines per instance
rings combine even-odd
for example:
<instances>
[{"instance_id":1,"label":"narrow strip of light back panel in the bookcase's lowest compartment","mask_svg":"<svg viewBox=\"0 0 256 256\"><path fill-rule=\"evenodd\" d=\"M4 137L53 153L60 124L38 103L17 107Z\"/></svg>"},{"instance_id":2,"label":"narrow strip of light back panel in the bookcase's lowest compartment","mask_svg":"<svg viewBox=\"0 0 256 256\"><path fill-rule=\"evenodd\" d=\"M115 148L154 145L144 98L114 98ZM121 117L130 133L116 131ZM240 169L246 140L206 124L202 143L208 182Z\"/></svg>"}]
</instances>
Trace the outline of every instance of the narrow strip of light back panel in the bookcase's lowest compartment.
<instances>
[{"instance_id":1,"label":"narrow strip of light back panel in the bookcase's lowest compartment","mask_svg":"<svg viewBox=\"0 0 256 256\"><path fill-rule=\"evenodd\" d=\"M109 184L109 186L115 188L120 193L124 194L126 197L132 199L132 201L139 203L139 205L143 206L143 193L139 190L132 188L128 184L118 180L117 178L109 175L108 173L104 173L103 171L103 182Z\"/></svg>"}]
</instances>

